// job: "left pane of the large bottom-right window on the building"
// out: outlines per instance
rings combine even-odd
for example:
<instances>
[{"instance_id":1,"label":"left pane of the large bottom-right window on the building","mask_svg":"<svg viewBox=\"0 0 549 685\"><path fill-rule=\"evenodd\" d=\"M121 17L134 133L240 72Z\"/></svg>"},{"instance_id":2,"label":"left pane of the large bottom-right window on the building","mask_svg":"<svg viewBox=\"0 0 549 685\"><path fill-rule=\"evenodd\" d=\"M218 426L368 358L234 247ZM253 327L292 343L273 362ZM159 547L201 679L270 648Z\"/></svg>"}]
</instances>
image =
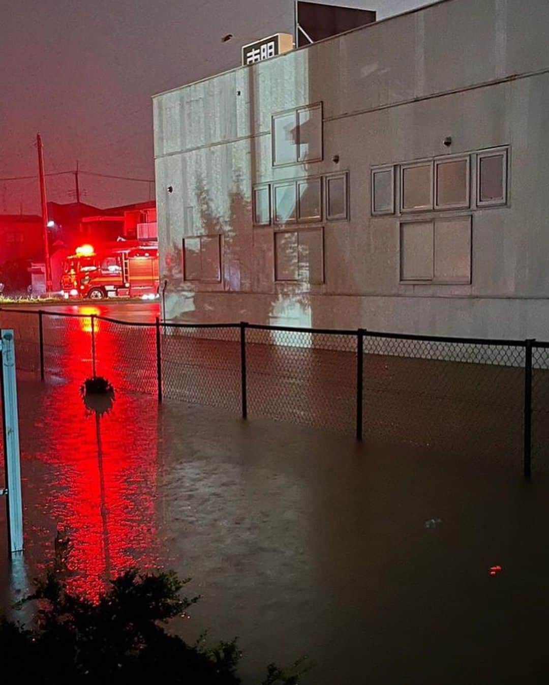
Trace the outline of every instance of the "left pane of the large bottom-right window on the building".
<instances>
[{"instance_id":1,"label":"left pane of the large bottom-right window on the building","mask_svg":"<svg viewBox=\"0 0 549 685\"><path fill-rule=\"evenodd\" d=\"M433 222L400 224L400 280L433 280Z\"/></svg>"}]
</instances>

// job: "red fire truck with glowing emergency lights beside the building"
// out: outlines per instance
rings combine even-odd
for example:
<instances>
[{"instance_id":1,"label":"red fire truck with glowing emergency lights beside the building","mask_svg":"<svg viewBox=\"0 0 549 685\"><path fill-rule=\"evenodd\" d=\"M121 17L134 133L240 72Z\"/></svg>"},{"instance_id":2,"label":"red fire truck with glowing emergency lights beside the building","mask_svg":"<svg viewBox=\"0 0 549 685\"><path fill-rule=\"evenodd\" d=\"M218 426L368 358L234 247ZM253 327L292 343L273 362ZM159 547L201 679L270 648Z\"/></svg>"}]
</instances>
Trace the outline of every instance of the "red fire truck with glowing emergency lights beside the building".
<instances>
[{"instance_id":1,"label":"red fire truck with glowing emergency lights beside the building","mask_svg":"<svg viewBox=\"0 0 549 685\"><path fill-rule=\"evenodd\" d=\"M158 293L158 244L120 240L97 249L80 245L64 262L61 290L65 299L154 299Z\"/></svg>"}]
</instances>

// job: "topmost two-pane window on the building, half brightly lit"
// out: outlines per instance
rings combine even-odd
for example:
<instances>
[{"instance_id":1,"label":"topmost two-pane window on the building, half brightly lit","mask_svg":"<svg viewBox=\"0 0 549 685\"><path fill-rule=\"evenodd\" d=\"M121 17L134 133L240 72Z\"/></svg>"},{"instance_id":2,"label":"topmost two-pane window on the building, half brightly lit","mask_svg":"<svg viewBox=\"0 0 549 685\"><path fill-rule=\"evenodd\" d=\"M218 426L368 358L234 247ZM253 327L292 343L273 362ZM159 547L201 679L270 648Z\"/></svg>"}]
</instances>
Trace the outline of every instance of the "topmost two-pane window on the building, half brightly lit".
<instances>
[{"instance_id":1,"label":"topmost two-pane window on the building, half brightly lit","mask_svg":"<svg viewBox=\"0 0 549 685\"><path fill-rule=\"evenodd\" d=\"M273 166L322 160L322 105L275 114L271 134Z\"/></svg>"}]
</instances>

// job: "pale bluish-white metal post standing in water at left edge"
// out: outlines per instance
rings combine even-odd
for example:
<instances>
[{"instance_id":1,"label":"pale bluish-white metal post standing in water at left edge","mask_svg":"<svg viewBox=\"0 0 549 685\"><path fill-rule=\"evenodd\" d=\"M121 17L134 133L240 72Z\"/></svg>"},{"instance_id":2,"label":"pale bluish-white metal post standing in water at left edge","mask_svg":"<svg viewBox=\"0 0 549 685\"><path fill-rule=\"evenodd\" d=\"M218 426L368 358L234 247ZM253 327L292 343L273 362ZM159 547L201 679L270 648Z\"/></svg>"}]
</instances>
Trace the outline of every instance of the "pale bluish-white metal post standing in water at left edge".
<instances>
[{"instance_id":1,"label":"pale bluish-white metal post standing in water at left edge","mask_svg":"<svg viewBox=\"0 0 549 685\"><path fill-rule=\"evenodd\" d=\"M18 552L23 549L23 500L21 498L15 344L14 333L11 329L2 329L1 350L5 481L8 487L8 536L10 551Z\"/></svg>"}]
</instances>

